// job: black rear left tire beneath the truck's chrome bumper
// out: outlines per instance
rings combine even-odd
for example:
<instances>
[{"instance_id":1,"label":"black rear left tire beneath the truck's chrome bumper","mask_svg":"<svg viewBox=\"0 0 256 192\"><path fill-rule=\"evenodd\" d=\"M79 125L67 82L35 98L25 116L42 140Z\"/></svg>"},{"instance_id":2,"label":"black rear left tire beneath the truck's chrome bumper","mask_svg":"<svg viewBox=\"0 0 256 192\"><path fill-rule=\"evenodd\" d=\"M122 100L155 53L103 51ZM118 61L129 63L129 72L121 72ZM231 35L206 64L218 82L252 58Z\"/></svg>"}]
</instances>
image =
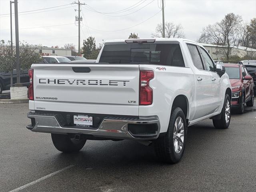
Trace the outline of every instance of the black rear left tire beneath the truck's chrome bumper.
<instances>
[{"instance_id":1,"label":"black rear left tire beneath the truck's chrome bumper","mask_svg":"<svg viewBox=\"0 0 256 192\"><path fill-rule=\"evenodd\" d=\"M86 140L75 140L70 138L69 135L52 134L52 142L59 151L71 153L80 151Z\"/></svg>"}]
</instances>

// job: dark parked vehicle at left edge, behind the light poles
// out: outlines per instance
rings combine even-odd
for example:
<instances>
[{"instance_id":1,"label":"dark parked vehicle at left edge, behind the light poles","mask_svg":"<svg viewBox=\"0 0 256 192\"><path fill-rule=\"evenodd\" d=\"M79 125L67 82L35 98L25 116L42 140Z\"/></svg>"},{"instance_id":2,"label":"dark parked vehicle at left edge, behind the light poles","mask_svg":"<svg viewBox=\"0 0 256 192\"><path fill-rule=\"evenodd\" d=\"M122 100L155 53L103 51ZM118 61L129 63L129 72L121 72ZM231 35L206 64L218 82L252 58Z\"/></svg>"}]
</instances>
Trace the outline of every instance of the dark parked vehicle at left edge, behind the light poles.
<instances>
[{"instance_id":1,"label":"dark parked vehicle at left edge, behind the light poles","mask_svg":"<svg viewBox=\"0 0 256 192\"><path fill-rule=\"evenodd\" d=\"M17 74L16 70L13 71L13 84L16 83ZM20 70L20 82L23 86L29 85L29 77L27 70ZM11 86L11 73L10 72L0 72L0 94L4 90L10 90Z\"/></svg>"}]
</instances>

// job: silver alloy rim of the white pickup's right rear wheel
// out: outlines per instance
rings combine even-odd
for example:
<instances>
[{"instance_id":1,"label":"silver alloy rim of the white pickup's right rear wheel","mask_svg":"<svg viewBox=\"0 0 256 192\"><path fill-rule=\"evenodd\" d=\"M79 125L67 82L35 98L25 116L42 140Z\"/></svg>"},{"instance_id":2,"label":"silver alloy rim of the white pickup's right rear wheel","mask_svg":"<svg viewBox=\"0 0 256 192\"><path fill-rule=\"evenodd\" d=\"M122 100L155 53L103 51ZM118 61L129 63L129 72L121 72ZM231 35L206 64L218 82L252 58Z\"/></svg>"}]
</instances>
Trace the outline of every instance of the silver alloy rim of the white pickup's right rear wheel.
<instances>
[{"instance_id":1,"label":"silver alloy rim of the white pickup's right rear wheel","mask_svg":"<svg viewBox=\"0 0 256 192\"><path fill-rule=\"evenodd\" d=\"M173 128L173 145L176 154L179 154L182 150L184 142L184 123L180 116L176 118Z\"/></svg>"}]
</instances>

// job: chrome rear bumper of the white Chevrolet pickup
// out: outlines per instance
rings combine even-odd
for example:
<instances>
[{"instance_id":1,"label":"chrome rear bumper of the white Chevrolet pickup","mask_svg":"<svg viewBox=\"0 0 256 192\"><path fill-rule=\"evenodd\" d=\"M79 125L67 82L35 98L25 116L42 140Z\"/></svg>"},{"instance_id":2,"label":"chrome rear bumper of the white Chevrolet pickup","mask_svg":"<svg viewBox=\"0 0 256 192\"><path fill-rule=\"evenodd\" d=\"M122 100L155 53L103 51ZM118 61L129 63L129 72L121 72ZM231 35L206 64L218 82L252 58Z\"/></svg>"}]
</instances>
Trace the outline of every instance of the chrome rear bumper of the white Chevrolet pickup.
<instances>
[{"instance_id":1,"label":"chrome rear bumper of the white Chevrolet pickup","mask_svg":"<svg viewBox=\"0 0 256 192\"><path fill-rule=\"evenodd\" d=\"M55 134L86 134L98 138L109 139L131 139L131 140L153 140L158 138L160 122L158 118L127 118L106 117L98 128L74 128L60 125L54 113L27 114L31 124L26 126L33 132L55 133Z\"/></svg>"}]
</instances>

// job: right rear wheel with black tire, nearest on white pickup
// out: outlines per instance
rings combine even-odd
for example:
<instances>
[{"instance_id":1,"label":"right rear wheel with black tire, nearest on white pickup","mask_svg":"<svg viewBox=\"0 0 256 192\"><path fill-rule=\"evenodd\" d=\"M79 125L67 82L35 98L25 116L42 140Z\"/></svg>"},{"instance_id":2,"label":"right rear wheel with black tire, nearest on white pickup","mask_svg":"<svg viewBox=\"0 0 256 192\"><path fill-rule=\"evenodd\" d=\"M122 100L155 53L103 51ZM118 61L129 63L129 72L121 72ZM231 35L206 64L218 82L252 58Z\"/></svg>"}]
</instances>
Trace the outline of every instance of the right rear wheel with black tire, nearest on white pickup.
<instances>
[{"instance_id":1,"label":"right rear wheel with black tire, nearest on white pickup","mask_svg":"<svg viewBox=\"0 0 256 192\"><path fill-rule=\"evenodd\" d=\"M187 135L184 112L177 107L173 110L165 136L154 142L156 155L166 163L177 163L183 156Z\"/></svg>"}]
</instances>

